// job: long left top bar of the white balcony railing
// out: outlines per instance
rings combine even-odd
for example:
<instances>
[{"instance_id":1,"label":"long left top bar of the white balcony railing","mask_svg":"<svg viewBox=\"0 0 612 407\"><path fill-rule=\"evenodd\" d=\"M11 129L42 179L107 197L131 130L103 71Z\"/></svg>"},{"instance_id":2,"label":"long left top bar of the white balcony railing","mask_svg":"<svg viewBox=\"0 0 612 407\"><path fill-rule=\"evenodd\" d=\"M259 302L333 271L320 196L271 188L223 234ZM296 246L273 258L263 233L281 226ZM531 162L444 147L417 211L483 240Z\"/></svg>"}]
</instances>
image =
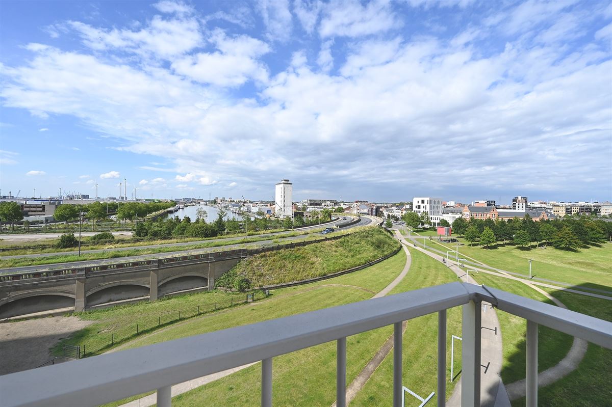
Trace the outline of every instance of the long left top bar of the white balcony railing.
<instances>
[{"instance_id":1,"label":"long left top bar of the white balcony railing","mask_svg":"<svg viewBox=\"0 0 612 407\"><path fill-rule=\"evenodd\" d=\"M6 407L97 406L468 301L460 282L427 287L0 376L0 394Z\"/></svg>"}]
</instances>

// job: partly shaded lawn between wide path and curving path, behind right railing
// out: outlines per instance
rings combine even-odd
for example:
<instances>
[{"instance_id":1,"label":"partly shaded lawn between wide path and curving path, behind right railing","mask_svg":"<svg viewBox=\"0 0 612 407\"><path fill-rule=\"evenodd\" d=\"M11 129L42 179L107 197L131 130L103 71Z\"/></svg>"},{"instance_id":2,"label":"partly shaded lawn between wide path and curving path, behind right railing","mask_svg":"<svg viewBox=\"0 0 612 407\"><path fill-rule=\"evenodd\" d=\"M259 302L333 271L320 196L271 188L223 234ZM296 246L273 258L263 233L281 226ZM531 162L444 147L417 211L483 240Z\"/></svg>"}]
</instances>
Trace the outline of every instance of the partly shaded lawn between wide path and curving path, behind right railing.
<instances>
[{"instance_id":1,"label":"partly shaded lawn between wide path and curving path, behind right railing","mask_svg":"<svg viewBox=\"0 0 612 407\"><path fill-rule=\"evenodd\" d=\"M479 284L554 305L550 299L520 281L496 277L486 273L471 274L471 276ZM502 354L504 357L501 378L504 383L510 384L525 378L525 334L527 332L527 321L501 310L497 310L497 315L501 328ZM547 328L546 326L539 326L538 340L539 372L543 372L558 364L565 357L573 343L572 336L554 331L554 329Z\"/></svg>"}]
</instances>

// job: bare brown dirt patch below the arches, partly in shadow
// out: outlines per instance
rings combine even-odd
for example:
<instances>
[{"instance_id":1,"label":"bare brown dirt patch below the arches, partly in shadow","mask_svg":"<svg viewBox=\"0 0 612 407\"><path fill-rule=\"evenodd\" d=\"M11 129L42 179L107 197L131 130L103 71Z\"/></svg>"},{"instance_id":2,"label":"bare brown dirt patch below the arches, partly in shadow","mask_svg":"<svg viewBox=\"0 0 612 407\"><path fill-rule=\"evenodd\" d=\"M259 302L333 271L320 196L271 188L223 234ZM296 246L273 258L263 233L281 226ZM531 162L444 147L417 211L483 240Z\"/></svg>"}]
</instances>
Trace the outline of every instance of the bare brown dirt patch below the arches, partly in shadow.
<instances>
[{"instance_id":1,"label":"bare brown dirt patch below the arches, partly in shadow","mask_svg":"<svg viewBox=\"0 0 612 407\"><path fill-rule=\"evenodd\" d=\"M91 324L78 317L50 317L0 323L0 375L33 369L53 358L60 340Z\"/></svg>"}]
</instances>

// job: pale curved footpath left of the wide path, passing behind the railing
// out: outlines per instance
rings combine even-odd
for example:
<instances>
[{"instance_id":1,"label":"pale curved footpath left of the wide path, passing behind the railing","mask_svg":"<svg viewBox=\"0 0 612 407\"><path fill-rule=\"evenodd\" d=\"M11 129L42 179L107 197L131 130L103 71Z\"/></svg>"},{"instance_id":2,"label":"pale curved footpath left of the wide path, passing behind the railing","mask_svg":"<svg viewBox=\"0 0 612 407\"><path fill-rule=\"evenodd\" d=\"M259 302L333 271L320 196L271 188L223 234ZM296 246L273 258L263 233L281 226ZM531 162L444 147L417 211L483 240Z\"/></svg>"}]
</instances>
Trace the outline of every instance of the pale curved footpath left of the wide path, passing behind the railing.
<instances>
[{"instance_id":1,"label":"pale curved footpath left of the wide path, passing behind the railing","mask_svg":"<svg viewBox=\"0 0 612 407\"><path fill-rule=\"evenodd\" d=\"M408 270L410 268L410 259L411 258L410 258L410 253L408 252L408 250L406 248L403 248L403 249L406 252L406 265L404 266L403 270L401 271L401 273L397 277L395 277L394 281L390 282L389 285L387 285L387 287L383 288L383 290L379 291L378 293L373 295L371 298L379 298L379 297L387 295L387 293L389 293L391 290L393 290L395 288L395 286L400 283L401 279L403 279L406 276L406 274L408 274ZM365 269L365 270L367 270L367 269ZM329 285L332 285L332 284L329 284ZM338 285L342 285L342 284L338 284ZM353 287L353 286L351 286L351 287ZM357 288L357 287L355 287L355 288ZM359 287L359 288L363 289L362 287ZM367 291L370 291L370 290L367 290ZM383 359L384 359L384 356L383 356ZM260 363L260 362L253 362L253 363L250 363L250 364L234 367L233 369L224 370L223 372L217 372L217 373L213 373L212 375L206 375L206 376L202 376L202 377L199 377L199 378L195 378L195 379L192 379L192 380L185 381L183 383L174 384L174 386L172 386L172 390L171 390L172 397L174 397L176 395L179 395L179 394L183 394L183 393L188 392L190 390L193 390L196 387L203 386L204 384L211 383L212 381L218 380L218 379L223 378L225 376L231 375L231 373L239 372L242 369L246 369L247 367L250 367L250 366L258 364L258 363ZM376 365L376 366L378 366L378 365ZM376 367L374 369L376 369ZM374 371L374 369L372 370L372 372ZM370 375L371 375L371 373L370 373ZM368 378L369 377L370 376L368 376ZM367 379L366 379L366 381L367 381ZM364 381L364 383L365 383L365 381ZM357 389L357 390L359 390L359 389ZM354 397L354 395L353 395L353 397ZM348 400L348 389L347 389L347 400ZM157 403L157 394L153 393L153 394L149 394L149 395L147 395L145 397L138 398L137 400L133 400L132 402L122 404L119 407L151 407L152 405L155 405L155 403Z\"/></svg>"}]
</instances>

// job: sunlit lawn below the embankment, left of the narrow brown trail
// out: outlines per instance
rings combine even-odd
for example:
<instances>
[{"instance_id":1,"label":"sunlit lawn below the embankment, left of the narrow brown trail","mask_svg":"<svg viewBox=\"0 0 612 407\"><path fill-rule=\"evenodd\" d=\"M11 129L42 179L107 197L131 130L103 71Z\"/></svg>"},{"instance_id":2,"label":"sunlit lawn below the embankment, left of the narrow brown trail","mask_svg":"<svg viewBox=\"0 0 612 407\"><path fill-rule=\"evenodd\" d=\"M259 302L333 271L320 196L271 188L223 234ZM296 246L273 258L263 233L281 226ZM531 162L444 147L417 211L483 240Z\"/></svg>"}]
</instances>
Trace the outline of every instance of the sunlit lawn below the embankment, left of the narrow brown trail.
<instances>
[{"instance_id":1,"label":"sunlit lawn below the embankment, left of the narrow brown trail","mask_svg":"<svg viewBox=\"0 0 612 407\"><path fill-rule=\"evenodd\" d=\"M127 343L125 348L151 345L152 343L217 331L218 329L232 328L233 326L285 317L300 312L362 301L371 298L373 293L392 282L403 270L405 263L406 255L403 251L400 251L390 259L364 270L312 284L273 290L269 299L256 305L252 304L220 314L211 314L185 321L179 326L154 332L149 336ZM347 339L347 380L352 380L360 372L373 356L373 352L382 346L391 332L392 328L384 327L375 331L363 332ZM307 365L306 369L304 369L304 364ZM317 374L313 374L309 367L316 367ZM240 370L230 376L174 397L173 405L200 406L202 400L206 400L207 405L250 405L253 400L259 400L261 391L259 388L260 370L261 365L259 364ZM274 358L274 403L276 405L291 405L294 400L299 399L303 400L303 403L299 403L300 405L321 405L328 401L327 404L331 405L335 398L334 377L334 342ZM277 383L281 383L280 390ZM313 393L312 389L324 389L324 391ZM106 406L117 406L142 396L136 395ZM277 397L282 397L282 399L277 400Z\"/></svg>"}]
</instances>

